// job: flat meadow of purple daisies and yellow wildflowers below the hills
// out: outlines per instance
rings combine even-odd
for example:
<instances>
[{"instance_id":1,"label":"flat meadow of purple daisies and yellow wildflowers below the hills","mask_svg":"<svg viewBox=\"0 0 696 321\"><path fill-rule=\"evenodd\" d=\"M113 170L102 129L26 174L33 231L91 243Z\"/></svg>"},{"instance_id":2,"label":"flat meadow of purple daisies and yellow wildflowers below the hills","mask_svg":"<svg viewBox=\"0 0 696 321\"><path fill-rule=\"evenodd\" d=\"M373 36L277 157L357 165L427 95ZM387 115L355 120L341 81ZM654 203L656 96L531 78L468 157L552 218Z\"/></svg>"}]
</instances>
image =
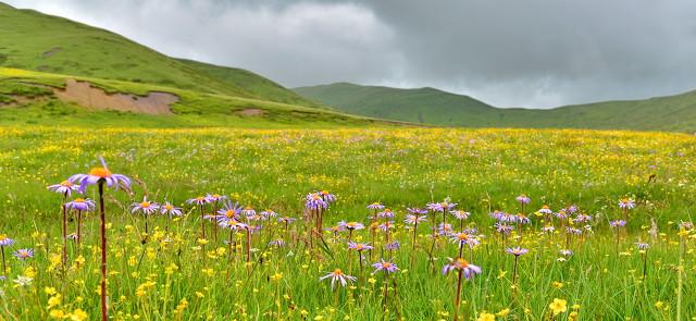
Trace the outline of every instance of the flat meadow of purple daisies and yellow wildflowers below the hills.
<instances>
[{"instance_id":1,"label":"flat meadow of purple daisies and yellow wildflowers below the hills","mask_svg":"<svg viewBox=\"0 0 696 321\"><path fill-rule=\"evenodd\" d=\"M696 318L691 135L9 126L0 146L1 320Z\"/></svg>"}]
</instances>

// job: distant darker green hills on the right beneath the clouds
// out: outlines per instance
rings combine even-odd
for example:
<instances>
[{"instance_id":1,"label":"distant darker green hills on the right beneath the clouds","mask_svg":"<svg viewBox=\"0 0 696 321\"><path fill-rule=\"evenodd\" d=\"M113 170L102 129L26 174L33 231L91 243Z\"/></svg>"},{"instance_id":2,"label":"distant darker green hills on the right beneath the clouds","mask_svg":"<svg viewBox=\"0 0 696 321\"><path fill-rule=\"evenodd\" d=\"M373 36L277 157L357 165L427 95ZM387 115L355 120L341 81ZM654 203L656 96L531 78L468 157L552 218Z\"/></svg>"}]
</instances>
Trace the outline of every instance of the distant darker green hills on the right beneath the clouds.
<instances>
[{"instance_id":1,"label":"distant darker green hills on the right beneath the clouds","mask_svg":"<svg viewBox=\"0 0 696 321\"><path fill-rule=\"evenodd\" d=\"M696 131L696 91L540 110L495 108L468 96L433 88L398 89L337 83L294 90L347 113L432 125Z\"/></svg>"}]
</instances>

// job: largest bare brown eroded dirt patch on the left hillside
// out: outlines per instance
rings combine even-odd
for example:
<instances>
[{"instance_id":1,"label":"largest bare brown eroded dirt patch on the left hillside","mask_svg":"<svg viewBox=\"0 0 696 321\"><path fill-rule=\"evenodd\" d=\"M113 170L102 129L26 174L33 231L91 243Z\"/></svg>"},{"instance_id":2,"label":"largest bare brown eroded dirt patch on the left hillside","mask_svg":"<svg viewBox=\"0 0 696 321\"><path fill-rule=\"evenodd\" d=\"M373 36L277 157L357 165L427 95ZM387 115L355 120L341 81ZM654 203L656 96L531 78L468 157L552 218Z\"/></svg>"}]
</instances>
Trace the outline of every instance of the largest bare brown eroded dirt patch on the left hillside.
<instances>
[{"instance_id":1,"label":"largest bare brown eroded dirt patch on the left hillside","mask_svg":"<svg viewBox=\"0 0 696 321\"><path fill-rule=\"evenodd\" d=\"M53 95L61 100L71 101L83 107L129 111L148 114L171 114L171 104L178 101L176 95L150 91L148 96L132 94L108 94L95 88L87 82L67 79L65 88L53 88Z\"/></svg>"}]
</instances>

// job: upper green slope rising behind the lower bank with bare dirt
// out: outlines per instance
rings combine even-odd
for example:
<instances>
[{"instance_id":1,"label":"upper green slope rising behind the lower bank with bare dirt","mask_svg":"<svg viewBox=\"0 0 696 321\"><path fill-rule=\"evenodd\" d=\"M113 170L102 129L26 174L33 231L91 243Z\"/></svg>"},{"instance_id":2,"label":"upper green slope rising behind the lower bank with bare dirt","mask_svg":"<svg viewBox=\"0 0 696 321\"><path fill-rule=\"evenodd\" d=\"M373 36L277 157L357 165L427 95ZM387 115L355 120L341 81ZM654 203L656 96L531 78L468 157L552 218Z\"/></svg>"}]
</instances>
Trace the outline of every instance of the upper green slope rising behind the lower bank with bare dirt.
<instances>
[{"instance_id":1,"label":"upper green slope rising behind the lower bank with bare dirt","mask_svg":"<svg viewBox=\"0 0 696 321\"><path fill-rule=\"evenodd\" d=\"M316 106L244 70L173 59L104 29L3 3L0 66Z\"/></svg>"}]
</instances>

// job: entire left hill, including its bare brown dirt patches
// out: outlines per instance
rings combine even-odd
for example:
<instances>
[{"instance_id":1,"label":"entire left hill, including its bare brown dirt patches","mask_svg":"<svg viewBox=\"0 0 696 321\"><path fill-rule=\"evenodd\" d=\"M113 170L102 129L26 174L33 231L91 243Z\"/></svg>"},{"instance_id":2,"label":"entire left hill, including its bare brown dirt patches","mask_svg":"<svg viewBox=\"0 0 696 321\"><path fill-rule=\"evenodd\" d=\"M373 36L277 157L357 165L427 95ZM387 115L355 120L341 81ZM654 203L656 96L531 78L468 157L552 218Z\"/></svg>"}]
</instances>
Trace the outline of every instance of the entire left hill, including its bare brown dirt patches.
<instances>
[{"instance_id":1,"label":"entire left hill, including its bare brown dirt patches","mask_svg":"<svg viewBox=\"0 0 696 321\"><path fill-rule=\"evenodd\" d=\"M0 3L0 125L391 125L241 69L176 59L109 30Z\"/></svg>"}]
</instances>

